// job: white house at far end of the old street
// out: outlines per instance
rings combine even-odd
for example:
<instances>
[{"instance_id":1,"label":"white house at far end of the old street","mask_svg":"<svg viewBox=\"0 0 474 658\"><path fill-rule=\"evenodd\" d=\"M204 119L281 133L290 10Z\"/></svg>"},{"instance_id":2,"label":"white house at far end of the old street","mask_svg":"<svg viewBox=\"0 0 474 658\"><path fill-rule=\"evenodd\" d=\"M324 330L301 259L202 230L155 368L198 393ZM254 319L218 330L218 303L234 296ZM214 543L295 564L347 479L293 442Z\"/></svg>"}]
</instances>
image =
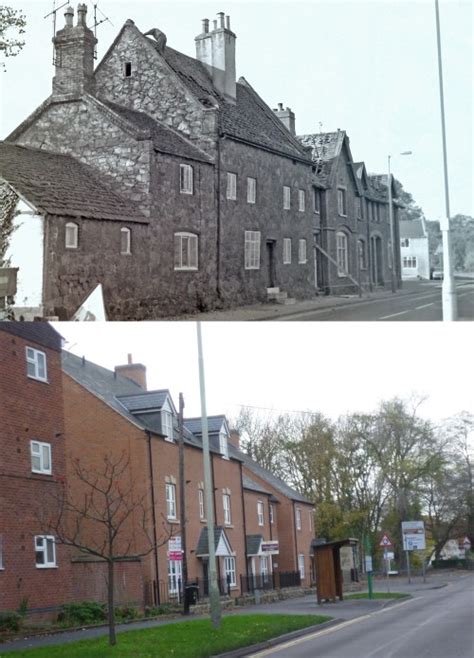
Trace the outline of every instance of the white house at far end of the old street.
<instances>
[{"instance_id":1,"label":"white house at far end of the old street","mask_svg":"<svg viewBox=\"0 0 474 658\"><path fill-rule=\"evenodd\" d=\"M429 279L430 252L424 219L400 222L402 279Z\"/></svg>"}]
</instances>

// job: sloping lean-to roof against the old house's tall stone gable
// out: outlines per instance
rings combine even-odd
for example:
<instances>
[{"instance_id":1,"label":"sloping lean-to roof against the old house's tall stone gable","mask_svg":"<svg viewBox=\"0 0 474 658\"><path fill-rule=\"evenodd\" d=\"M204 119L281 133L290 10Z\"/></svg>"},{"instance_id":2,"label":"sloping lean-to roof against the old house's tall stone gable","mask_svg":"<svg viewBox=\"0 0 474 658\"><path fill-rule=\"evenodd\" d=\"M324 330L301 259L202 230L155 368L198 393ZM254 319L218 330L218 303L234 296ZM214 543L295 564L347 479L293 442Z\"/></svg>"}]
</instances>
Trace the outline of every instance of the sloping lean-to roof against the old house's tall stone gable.
<instances>
[{"instance_id":1,"label":"sloping lean-to roof against the old house's tall stone gable","mask_svg":"<svg viewBox=\"0 0 474 658\"><path fill-rule=\"evenodd\" d=\"M158 123L155 119L148 116L148 114L145 114L145 112L130 110L110 101L102 102L120 117L132 123L136 128L145 131L150 136L157 151L171 153L190 160L211 162L211 157L207 153L198 149L194 144L191 144L191 142L171 128Z\"/></svg>"}]
</instances>

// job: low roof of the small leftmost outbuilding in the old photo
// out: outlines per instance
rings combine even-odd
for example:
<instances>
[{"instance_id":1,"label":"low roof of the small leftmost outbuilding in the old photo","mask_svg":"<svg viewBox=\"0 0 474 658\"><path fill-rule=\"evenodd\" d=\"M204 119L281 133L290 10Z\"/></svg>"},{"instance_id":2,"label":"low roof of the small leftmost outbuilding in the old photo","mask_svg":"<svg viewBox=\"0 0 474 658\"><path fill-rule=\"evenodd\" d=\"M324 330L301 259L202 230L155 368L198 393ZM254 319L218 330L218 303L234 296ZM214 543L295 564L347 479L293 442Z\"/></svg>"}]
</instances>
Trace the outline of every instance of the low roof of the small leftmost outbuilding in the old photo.
<instances>
[{"instance_id":1,"label":"low roof of the small leftmost outbuilding in the old photo","mask_svg":"<svg viewBox=\"0 0 474 658\"><path fill-rule=\"evenodd\" d=\"M41 213L148 223L99 173L70 155L0 142L0 178Z\"/></svg>"}]
</instances>

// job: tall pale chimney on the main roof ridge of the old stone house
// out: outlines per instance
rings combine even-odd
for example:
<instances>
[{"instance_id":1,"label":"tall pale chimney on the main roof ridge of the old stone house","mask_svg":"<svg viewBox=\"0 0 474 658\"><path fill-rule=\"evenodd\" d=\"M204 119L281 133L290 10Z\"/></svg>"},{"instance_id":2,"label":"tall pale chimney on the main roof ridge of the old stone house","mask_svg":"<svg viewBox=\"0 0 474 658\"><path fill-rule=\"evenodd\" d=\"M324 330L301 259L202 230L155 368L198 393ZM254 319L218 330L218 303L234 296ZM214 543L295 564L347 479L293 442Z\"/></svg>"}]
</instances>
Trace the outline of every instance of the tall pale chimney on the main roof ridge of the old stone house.
<instances>
[{"instance_id":1,"label":"tall pale chimney on the main roof ridge of the old stone house","mask_svg":"<svg viewBox=\"0 0 474 658\"><path fill-rule=\"evenodd\" d=\"M211 74L214 86L227 100L235 102L235 40L230 29L230 18L224 12L217 14L214 27L209 31L209 20L202 21L202 33L195 38L196 58Z\"/></svg>"}]
</instances>

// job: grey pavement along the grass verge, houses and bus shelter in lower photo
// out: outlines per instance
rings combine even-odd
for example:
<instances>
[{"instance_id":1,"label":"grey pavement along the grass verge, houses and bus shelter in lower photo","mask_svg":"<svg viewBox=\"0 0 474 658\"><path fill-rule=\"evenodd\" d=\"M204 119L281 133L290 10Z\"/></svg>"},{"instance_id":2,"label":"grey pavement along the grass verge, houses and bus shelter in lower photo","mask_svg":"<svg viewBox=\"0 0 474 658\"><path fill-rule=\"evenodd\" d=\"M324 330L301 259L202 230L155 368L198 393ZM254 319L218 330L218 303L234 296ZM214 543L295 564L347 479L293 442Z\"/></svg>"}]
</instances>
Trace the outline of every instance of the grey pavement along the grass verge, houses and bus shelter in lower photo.
<instances>
[{"instance_id":1,"label":"grey pavement along the grass verge, houses and bus shelter in lower photo","mask_svg":"<svg viewBox=\"0 0 474 658\"><path fill-rule=\"evenodd\" d=\"M406 592L413 597L419 596L421 592L433 589L442 589L450 582L456 581L459 578L472 577L472 574L465 571L450 571L443 573L429 573L426 577L426 582L423 581L422 576L411 578L411 583L408 583L407 578L404 577L391 577L390 578L390 591L391 592ZM387 584L385 579L375 579L373 583L374 592L386 592ZM363 590L364 591L364 590ZM365 590L367 591L367 590ZM397 599L345 599L337 601L336 603L322 603L318 604L315 595L302 596L294 599L286 599L276 603L264 603L260 605L249 605L242 608L236 608L232 611L224 611L224 615L246 615L246 614L294 614L294 615L327 615L334 619L326 622L326 625L334 625L347 620L356 619L373 612L381 611L386 607L399 603ZM202 618L197 615L190 617L178 617L175 619L154 619L148 621L139 621L130 624L117 625L117 633L127 632L131 630L140 630L145 628L154 628L163 626L165 624L177 624L183 621L189 621L193 618ZM319 629L323 628L321 624L318 625ZM108 632L106 626L95 628L85 628L74 631L62 631L59 633L49 635L38 635L23 638L21 640L14 640L12 642L5 642L0 644L0 654L7 651L15 651L22 649L29 649L34 647L44 647L58 644L65 644L68 642L75 642L78 640L85 640L88 638L100 637L106 635ZM299 637L306 633L314 632L314 627L296 631L290 634L291 637ZM286 641L289 636L280 636L264 643L264 646L275 646L276 644ZM262 645L263 646L263 645ZM260 645L259 647L260 648ZM237 652L229 652L225 656L243 656L246 653L251 653L257 649L256 646L238 650Z\"/></svg>"}]
</instances>

